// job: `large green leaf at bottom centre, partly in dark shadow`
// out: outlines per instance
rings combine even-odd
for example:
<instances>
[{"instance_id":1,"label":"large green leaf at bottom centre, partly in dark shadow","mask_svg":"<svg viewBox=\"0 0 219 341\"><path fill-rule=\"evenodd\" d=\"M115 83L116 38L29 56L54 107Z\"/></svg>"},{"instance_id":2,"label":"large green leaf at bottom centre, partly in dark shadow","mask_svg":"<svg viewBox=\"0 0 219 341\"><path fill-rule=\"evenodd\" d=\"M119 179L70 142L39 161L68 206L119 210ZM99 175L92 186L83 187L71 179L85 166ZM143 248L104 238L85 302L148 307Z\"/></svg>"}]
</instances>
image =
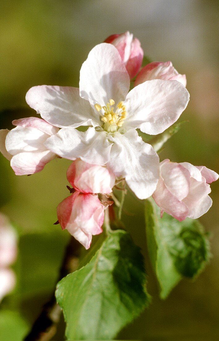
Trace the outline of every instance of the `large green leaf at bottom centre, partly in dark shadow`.
<instances>
[{"instance_id":1,"label":"large green leaf at bottom centre, partly in dark shadow","mask_svg":"<svg viewBox=\"0 0 219 341\"><path fill-rule=\"evenodd\" d=\"M113 339L149 303L143 258L130 235L112 232L91 261L62 279L56 299L68 339Z\"/></svg>"}]
</instances>

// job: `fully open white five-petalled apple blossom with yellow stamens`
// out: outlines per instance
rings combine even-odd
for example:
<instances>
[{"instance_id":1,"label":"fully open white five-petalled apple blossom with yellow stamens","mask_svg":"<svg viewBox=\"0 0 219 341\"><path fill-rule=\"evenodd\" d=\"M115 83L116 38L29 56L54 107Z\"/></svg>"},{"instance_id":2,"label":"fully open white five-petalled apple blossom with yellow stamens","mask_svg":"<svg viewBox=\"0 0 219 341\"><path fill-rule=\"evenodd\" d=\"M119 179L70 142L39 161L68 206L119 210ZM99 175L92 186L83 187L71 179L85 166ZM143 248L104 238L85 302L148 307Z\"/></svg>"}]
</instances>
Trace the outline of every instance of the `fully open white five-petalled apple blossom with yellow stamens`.
<instances>
[{"instance_id":1,"label":"fully open white five-petalled apple blossom with yellow stamens","mask_svg":"<svg viewBox=\"0 0 219 341\"><path fill-rule=\"evenodd\" d=\"M129 93L130 78L111 44L95 46L80 71L79 89L36 86L26 101L50 124L62 128L44 145L60 157L107 165L125 177L140 199L152 195L159 178L159 158L136 128L159 134L186 108L189 93L178 81L154 79ZM115 106L114 106L115 104ZM80 125L92 125L86 132Z\"/></svg>"}]
</instances>

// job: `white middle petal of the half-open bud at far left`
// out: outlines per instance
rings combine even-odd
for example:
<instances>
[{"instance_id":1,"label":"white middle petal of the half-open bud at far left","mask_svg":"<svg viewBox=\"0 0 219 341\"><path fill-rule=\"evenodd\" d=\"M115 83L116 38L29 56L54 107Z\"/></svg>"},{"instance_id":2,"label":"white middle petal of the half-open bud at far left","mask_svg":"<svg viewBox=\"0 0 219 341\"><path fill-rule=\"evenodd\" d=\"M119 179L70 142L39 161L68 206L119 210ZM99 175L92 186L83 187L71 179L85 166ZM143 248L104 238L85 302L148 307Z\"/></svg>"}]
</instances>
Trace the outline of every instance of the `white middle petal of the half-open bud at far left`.
<instances>
[{"instance_id":1,"label":"white middle petal of the half-open bud at far left","mask_svg":"<svg viewBox=\"0 0 219 341\"><path fill-rule=\"evenodd\" d=\"M16 155L20 152L45 151L44 142L50 135L32 127L16 127L9 131L5 140L6 150Z\"/></svg>"}]
</instances>

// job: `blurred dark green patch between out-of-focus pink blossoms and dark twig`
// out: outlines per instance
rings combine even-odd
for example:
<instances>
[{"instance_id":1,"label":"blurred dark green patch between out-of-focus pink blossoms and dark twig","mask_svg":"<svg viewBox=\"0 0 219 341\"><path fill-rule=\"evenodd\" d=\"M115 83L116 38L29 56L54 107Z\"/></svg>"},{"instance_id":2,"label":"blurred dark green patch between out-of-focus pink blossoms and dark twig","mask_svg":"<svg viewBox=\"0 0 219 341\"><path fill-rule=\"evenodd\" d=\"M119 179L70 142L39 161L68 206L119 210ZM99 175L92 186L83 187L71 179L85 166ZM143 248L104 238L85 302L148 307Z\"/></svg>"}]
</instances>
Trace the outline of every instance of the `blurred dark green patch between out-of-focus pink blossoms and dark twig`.
<instances>
[{"instance_id":1,"label":"blurred dark green patch between out-of-focus pink blossoms and dark twig","mask_svg":"<svg viewBox=\"0 0 219 341\"><path fill-rule=\"evenodd\" d=\"M20 236L14 301L53 292L68 237L62 231Z\"/></svg>"}]
</instances>

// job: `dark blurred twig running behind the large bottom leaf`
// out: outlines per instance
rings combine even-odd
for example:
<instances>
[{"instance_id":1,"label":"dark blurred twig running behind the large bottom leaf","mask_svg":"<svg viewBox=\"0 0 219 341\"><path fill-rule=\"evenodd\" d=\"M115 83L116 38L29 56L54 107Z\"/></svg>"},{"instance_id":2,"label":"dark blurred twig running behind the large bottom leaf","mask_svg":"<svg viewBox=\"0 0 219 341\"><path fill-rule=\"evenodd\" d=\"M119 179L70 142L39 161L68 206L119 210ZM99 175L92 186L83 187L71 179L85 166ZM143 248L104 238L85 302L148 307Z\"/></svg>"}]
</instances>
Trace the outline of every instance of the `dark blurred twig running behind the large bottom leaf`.
<instances>
[{"instance_id":1,"label":"dark blurred twig running behind the large bottom leaf","mask_svg":"<svg viewBox=\"0 0 219 341\"><path fill-rule=\"evenodd\" d=\"M79 264L79 249L81 244L71 237L66 248L63 263L60 269L59 279L68 275L68 273L77 270ZM61 308L56 303L55 290L51 299L43 306L43 309L30 333L24 341L49 341L57 331L57 324L60 320Z\"/></svg>"}]
</instances>

